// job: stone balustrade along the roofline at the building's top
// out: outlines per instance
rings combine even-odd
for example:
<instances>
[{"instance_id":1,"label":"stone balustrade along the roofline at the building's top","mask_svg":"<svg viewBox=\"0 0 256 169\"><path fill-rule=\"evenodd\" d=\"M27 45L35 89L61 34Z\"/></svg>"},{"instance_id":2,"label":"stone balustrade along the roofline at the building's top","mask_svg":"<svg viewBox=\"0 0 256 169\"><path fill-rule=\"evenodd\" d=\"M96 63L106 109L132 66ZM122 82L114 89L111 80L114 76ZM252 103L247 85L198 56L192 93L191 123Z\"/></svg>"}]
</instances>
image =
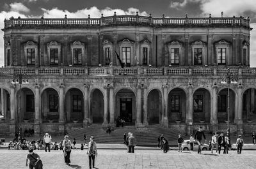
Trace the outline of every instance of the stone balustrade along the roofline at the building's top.
<instances>
[{"instance_id":1,"label":"stone balustrade along the roofline at the building's top","mask_svg":"<svg viewBox=\"0 0 256 169\"><path fill-rule=\"evenodd\" d=\"M20 26L108 26L108 25L154 25L154 26L246 26L250 19L243 17L230 18L152 18L139 15L118 15L101 18L10 18L4 20L4 28Z\"/></svg>"}]
</instances>

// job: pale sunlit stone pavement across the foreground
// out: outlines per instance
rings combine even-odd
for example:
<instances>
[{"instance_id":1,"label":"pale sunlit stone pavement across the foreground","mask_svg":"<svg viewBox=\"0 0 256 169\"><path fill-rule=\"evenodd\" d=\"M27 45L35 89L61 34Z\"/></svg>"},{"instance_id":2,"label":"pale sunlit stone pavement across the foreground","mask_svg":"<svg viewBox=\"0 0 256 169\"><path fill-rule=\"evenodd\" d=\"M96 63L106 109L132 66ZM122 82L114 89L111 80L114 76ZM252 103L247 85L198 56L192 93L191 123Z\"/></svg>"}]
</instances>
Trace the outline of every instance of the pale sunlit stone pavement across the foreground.
<instances>
[{"instance_id":1,"label":"pale sunlit stone pavement across the foreground","mask_svg":"<svg viewBox=\"0 0 256 169\"><path fill-rule=\"evenodd\" d=\"M72 150L70 166L65 165L62 151L35 151L41 156L44 169L64 168L88 168L88 156L86 151ZM0 151L0 168L27 168L26 155L28 151ZM243 151L237 154L230 151L229 154L211 154L204 151L177 152L169 151L163 154L159 150L135 150L134 154L128 154L124 150L99 150L96 158L96 167L100 169L167 169L167 168L255 168L256 151Z\"/></svg>"}]
</instances>

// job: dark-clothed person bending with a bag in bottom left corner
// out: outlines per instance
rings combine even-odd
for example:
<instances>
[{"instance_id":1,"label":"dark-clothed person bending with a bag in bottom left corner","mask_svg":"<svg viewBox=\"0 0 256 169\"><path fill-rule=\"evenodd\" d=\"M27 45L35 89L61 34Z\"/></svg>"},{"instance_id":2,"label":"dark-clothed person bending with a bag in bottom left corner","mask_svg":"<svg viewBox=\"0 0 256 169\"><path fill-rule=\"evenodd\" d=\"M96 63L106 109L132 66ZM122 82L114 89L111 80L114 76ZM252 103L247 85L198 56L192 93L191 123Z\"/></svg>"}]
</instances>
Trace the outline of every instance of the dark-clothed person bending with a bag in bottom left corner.
<instances>
[{"instance_id":1,"label":"dark-clothed person bending with a bag in bottom left corner","mask_svg":"<svg viewBox=\"0 0 256 169\"><path fill-rule=\"evenodd\" d=\"M29 154L26 159L26 166L28 166L28 160L29 160L29 169L43 169L43 163L40 159L40 156L38 154L34 153L33 149L29 149Z\"/></svg>"}]
</instances>

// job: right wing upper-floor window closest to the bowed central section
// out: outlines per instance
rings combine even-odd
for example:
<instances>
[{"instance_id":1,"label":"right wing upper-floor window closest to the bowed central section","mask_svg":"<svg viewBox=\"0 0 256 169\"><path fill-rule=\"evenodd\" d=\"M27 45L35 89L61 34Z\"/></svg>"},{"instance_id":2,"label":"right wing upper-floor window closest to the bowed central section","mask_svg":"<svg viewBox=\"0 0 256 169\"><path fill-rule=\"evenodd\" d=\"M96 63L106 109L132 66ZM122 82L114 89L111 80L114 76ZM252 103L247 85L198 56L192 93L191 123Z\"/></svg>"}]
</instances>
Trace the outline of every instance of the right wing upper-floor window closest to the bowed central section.
<instances>
[{"instance_id":1,"label":"right wing upper-floor window closest to the bowed central section","mask_svg":"<svg viewBox=\"0 0 256 169\"><path fill-rule=\"evenodd\" d=\"M182 44L179 41L168 43L169 65L179 65Z\"/></svg>"}]
</instances>

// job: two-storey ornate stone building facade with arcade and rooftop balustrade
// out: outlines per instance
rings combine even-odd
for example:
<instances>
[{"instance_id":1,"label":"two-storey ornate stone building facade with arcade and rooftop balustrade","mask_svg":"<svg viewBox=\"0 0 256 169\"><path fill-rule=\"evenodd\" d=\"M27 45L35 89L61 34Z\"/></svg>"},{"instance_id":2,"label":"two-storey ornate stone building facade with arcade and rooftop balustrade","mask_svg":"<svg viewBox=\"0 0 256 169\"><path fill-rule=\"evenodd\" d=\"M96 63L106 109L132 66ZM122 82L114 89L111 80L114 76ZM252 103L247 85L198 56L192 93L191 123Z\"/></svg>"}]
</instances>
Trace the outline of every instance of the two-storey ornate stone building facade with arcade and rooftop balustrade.
<instances>
[{"instance_id":1,"label":"two-storey ornate stone building facade with arcade and rooftop balustrade","mask_svg":"<svg viewBox=\"0 0 256 169\"><path fill-rule=\"evenodd\" d=\"M10 18L2 30L1 133L115 127L118 116L226 130L228 72L230 131L256 129L250 18Z\"/></svg>"}]
</instances>

